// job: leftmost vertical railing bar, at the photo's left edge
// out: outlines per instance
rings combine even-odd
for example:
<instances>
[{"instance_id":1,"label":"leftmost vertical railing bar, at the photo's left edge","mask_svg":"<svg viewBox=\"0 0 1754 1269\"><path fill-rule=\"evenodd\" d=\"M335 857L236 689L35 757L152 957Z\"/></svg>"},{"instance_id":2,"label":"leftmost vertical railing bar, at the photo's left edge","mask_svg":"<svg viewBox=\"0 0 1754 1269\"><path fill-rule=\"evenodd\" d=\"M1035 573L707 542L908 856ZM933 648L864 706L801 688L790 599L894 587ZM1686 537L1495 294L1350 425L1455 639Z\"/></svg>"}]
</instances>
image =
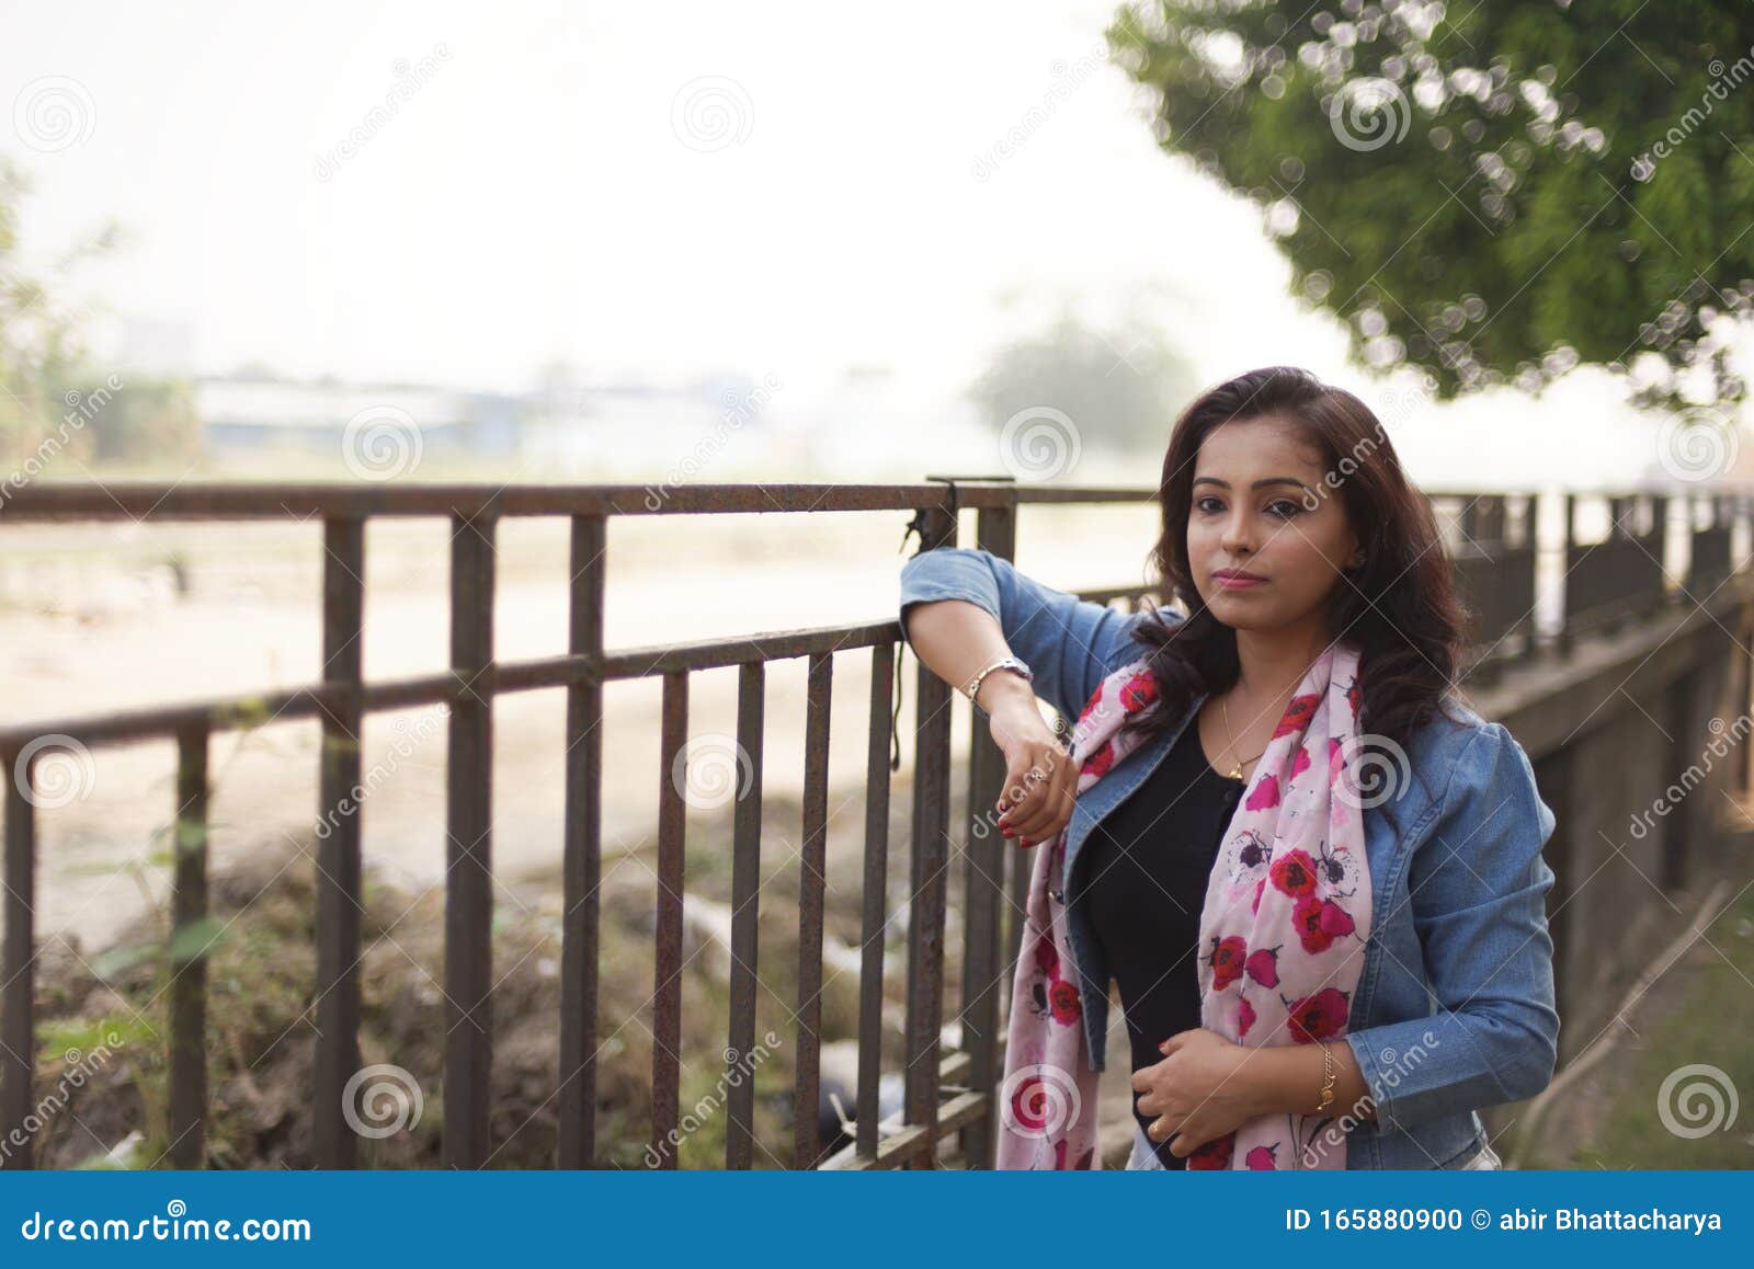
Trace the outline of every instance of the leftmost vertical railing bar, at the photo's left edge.
<instances>
[{"instance_id":1,"label":"leftmost vertical railing bar, at the photo's left edge","mask_svg":"<svg viewBox=\"0 0 1754 1269\"><path fill-rule=\"evenodd\" d=\"M32 1134L26 1124L35 1104L32 1087L37 1069L37 969L35 969L35 803L30 799L32 759L19 752L0 754L5 769L5 939L0 943L0 1141L12 1145L0 1153L0 1167L33 1166Z\"/></svg>"}]
</instances>

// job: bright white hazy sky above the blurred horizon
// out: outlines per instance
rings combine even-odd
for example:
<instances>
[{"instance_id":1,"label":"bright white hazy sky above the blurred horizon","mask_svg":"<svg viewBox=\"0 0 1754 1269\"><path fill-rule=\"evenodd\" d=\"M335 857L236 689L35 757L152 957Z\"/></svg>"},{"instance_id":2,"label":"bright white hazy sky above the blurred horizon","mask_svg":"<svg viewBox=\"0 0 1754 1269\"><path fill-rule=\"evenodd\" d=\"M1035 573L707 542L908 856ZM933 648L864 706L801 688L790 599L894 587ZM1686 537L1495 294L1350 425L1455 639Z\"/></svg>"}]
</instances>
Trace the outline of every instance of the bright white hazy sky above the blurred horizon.
<instances>
[{"instance_id":1,"label":"bright white hazy sky above the blurred horizon","mask_svg":"<svg viewBox=\"0 0 1754 1269\"><path fill-rule=\"evenodd\" d=\"M118 217L132 245L89 289L186 324L202 372L519 389L567 358L774 373L809 400L881 365L930 401L1056 296L1102 315L1161 294L1205 379L1368 382L1286 296L1259 214L1158 151L1102 61L1110 12L4 0L0 147L37 188L26 242ZM1612 401L1572 398L1600 442ZM1538 414L1537 471L1577 449ZM1428 440L1507 415L1529 407L1445 412Z\"/></svg>"}]
</instances>

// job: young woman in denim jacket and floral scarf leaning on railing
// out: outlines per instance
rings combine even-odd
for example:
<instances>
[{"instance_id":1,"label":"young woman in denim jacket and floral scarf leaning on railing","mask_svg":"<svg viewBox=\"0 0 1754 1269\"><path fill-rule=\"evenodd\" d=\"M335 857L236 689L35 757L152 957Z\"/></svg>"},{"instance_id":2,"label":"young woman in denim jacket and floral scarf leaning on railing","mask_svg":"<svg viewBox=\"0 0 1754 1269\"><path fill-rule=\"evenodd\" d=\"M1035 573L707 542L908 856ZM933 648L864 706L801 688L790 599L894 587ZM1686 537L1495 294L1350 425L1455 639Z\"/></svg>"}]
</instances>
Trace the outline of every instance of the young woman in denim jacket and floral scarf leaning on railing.
<instances>
[{"instance_id":1,"label":"young woman in denim jacket and floral scarf leaning on railing","mask_svg":"<svg viewBox=\"0 0 1754 1269\"><path fill-rule=\"evenodd\" d=\"M1430 503L1363 401L1291 368L1187 407L1159 498L1175 606L986 550L902 573L909 643L1005 755L998 826L1038 847L1000 1166L1096 1166L1116 980L1128 1167L1496 1167L1477 1109L1558 1052L1554 817L1456 689Z\"/></svg>"}]
</instances>

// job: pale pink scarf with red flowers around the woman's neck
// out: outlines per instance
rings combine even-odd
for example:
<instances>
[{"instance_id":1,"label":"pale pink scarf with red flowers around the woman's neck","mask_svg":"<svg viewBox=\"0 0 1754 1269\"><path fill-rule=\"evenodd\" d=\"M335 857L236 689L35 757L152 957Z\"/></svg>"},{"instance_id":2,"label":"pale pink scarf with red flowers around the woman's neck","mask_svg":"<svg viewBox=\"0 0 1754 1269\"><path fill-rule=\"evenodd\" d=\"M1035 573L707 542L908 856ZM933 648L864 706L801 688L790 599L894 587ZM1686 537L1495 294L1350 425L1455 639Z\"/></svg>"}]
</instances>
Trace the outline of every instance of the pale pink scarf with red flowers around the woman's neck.
<instances>
[{"instance_id":1,"label":"pale pink scarf with red flowers around the woman's neck","mask_svg":"<svg viewBox=\"0 0 1754 1269\"><path fill-rule=\"evenodd\" d=\"M1310 666L1237 803L1207 882L1200 1025L1249 1048L1345 1032L1370 936L1358 659L1358 647L1340 642ZM1145 661L1102 682L1073 729L1079 794L1140 745L1137 734L1117 733L1156 699ZM1035 852L998 1099L1005 1169L1098 1166L1098 1076L1086 1053L1065 904L1047 894L1065 850L1059 833ZM1261 1115L1196 1148L1187 1167L1344 1169L1345 1132L1335 1124L1342 1111L1333 1102L1321 1117Z\"/></svg>"}]
</instances>

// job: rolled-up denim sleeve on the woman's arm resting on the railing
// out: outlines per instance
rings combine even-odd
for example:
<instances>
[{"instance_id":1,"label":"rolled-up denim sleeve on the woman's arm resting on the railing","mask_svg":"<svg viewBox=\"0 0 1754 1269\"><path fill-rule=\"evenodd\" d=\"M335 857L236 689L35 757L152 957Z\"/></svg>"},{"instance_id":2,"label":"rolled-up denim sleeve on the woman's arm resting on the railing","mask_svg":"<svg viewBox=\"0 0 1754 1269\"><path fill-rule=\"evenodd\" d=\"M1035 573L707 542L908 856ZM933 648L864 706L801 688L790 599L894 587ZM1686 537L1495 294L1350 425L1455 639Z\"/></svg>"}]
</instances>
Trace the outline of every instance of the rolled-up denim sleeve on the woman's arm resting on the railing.
<instances>
[{"instance_id":1,"label":"rolled-up denim sleeve on the woman's arm resting on the railing","mask_svg":"<svg viewBox=\"0 0 1754 1269\"><path fill-rule=\"evenodd\" d=\"M940 547L909 559L902 566L903 633L909 606L926 599L966 599L998 617L1005 643L1035 673L1035 694L1068 722L1105 675L1130 652L1142 652L1131 643L1135 617L1042 585L989 550Z\"/></svg>"}]
</instances>

